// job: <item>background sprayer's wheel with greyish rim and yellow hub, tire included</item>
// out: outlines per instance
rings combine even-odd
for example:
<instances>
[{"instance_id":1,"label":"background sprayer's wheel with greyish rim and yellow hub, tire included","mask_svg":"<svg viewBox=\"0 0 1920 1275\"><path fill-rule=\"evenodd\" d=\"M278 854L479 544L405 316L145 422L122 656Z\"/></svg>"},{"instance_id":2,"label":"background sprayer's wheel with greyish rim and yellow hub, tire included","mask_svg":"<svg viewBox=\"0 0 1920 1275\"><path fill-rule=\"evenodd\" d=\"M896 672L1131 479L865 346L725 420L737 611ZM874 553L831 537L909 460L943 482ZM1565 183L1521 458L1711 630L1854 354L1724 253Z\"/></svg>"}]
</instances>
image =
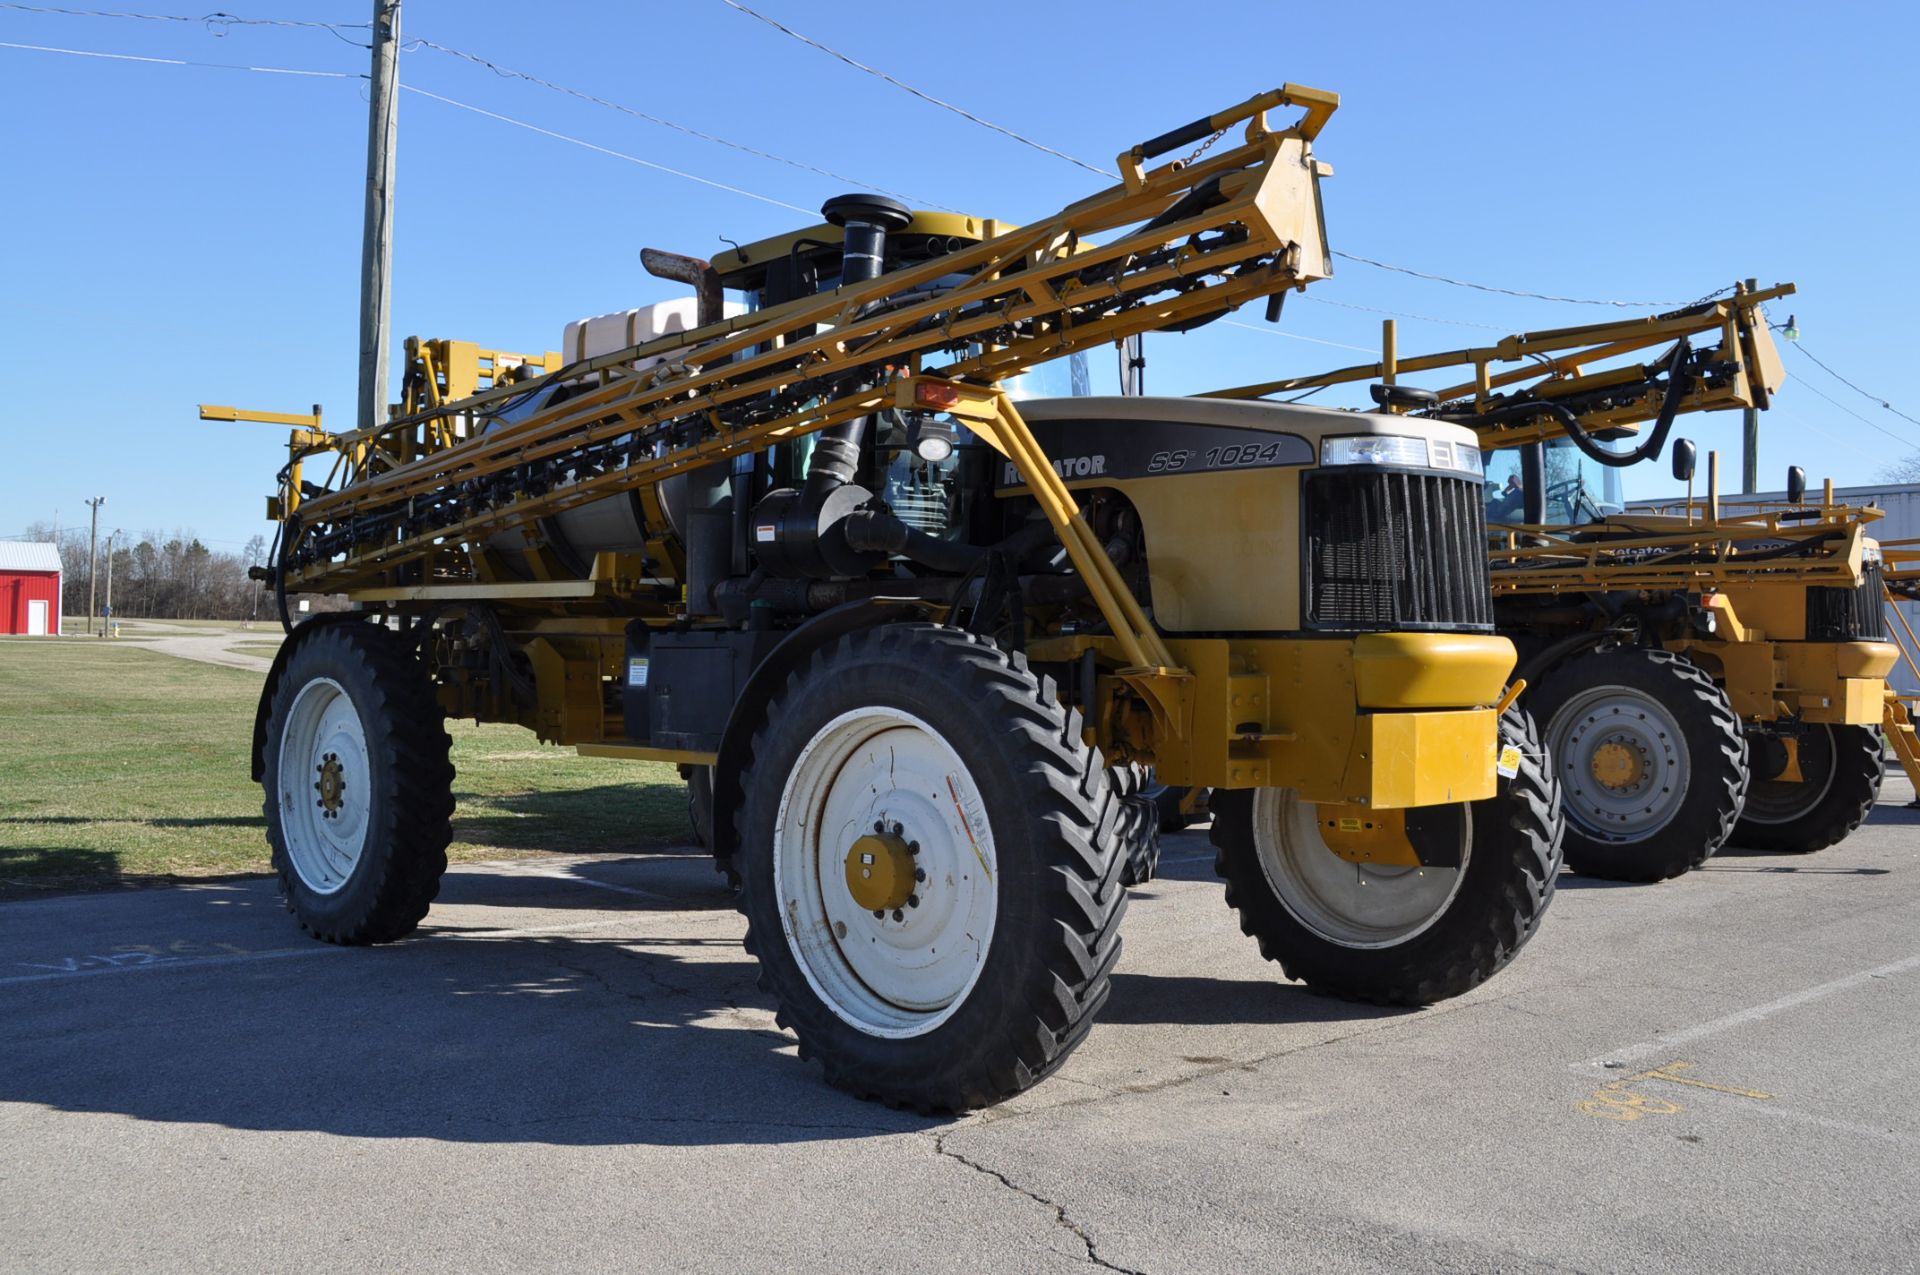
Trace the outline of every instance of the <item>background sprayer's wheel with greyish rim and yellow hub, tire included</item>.
<instances>
[{"instance_id":1,"label":"background sprayer's wheel with greyish rim and yellow hub, tire included","mask_svg":"<svg viewBox=\"0 0 1920 1275\"><path fill-rule=\"evenodd\" d=\"M1726 843L1747 797L1747 737L1690 661L1645 647L1588 651L1526 699L1567 803L1567 866L1665 881Z\"/></svg>"}]
</instances>

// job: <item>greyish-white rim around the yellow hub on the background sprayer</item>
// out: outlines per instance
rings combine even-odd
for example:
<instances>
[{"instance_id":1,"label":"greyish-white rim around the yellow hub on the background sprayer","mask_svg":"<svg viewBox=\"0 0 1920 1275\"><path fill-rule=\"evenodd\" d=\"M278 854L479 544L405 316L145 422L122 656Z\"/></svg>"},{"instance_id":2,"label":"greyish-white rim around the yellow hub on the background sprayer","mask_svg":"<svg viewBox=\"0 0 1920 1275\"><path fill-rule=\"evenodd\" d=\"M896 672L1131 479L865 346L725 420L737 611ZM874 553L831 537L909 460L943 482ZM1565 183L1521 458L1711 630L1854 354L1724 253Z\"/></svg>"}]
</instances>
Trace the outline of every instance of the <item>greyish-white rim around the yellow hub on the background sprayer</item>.
<instances>
[{"instance_id":1,"label":"greyish-white rim around the yellow hub on the background sprayer","mask_svg":"<svg viewBox=\"0 0 1920 1275\"><path fill-rule=\"evenodd\" d=\"M1601 749L1632 758L1630 782L1596 778ZM1686 805L1692 760L1680 722L1632 687L1597 686L1569 699L1548 726L1548 753L1561 766L1567 816L1599 841L1645 841Z\"/></svg>"}]
</instances>

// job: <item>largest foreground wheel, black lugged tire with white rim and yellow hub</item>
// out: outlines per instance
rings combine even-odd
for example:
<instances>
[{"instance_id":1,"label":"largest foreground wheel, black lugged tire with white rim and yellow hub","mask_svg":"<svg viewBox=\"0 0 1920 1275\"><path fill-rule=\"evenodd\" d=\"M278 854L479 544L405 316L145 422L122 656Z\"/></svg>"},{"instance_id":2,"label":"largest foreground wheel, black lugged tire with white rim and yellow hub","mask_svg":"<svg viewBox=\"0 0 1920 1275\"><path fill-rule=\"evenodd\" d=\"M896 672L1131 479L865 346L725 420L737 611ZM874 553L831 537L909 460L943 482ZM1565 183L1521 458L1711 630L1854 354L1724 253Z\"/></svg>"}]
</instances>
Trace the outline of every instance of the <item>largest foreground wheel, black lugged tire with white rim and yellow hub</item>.
<instances>
[{"instance_id":1,"label":"largest foreground wheel, black lugged tire with white rim and yellow hub","mask_svg":"<svg viewBox=\"0 0 1920 1275\"><path fill-rule=\"evenodd\" d=\"M768 705L743 789L747 950L828 1083L960 1112L1092 1027L1121 803L1021 655L935 624L841 638Z\"/></svg>"}]
</instances>

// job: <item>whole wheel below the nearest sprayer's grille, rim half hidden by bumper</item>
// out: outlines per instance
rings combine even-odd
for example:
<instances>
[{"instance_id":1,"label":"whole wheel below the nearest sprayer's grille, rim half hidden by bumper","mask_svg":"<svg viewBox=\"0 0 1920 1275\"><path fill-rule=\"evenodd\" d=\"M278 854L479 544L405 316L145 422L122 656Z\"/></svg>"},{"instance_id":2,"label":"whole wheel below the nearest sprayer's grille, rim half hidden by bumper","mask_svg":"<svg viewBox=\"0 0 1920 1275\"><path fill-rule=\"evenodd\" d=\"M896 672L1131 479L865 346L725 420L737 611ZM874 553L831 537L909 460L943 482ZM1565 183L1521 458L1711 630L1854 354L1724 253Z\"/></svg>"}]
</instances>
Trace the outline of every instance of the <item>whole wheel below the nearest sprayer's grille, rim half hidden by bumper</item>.
<instances>
[{"instance_id":1,"label":"whole wheel below the nearest sprayer's grille, rim half hidden by bumper","mask_svg":"<svg viewBox=\"0 0 1920 1275\"><path fill-rule=\"evenodd\" d=\"M1561 799L1534 724L1500 720L1519 768L1486 801L1430 806L1428 845L1457 866L1356 864L1292 789L1215 789L1213 866L1260 954L1313 991L1432 1004L1469 991L1532 937L1561 866Z\"/></svg>"}]
</instances>

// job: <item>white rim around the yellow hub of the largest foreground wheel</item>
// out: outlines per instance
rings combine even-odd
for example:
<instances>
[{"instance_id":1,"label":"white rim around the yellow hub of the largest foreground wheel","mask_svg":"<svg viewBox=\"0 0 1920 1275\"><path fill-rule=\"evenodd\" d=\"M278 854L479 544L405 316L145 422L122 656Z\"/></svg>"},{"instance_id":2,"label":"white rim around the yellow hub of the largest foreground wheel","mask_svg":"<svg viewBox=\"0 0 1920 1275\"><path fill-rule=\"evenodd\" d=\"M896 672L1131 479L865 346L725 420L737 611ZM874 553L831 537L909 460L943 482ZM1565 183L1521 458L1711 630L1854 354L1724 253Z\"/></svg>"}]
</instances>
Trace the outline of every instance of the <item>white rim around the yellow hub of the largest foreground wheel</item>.
<instances>
[{"instance_id":1,"label":"white rim around the yellow hub of the largest foreground wheel","mask_svg":"<svg viewBox=\"0 0 1920 1275\"><path fill-rule=\"evenodd\" d=\"M876 824L920 847L918 906L874 916L849 891L847 853ZM843 1022L902 1039L966 1002L993 943L1000 864L979 787L931 726L883 707L822 726L787 776L772 849L787 945Z\"/></svg>"}]
</instances>

